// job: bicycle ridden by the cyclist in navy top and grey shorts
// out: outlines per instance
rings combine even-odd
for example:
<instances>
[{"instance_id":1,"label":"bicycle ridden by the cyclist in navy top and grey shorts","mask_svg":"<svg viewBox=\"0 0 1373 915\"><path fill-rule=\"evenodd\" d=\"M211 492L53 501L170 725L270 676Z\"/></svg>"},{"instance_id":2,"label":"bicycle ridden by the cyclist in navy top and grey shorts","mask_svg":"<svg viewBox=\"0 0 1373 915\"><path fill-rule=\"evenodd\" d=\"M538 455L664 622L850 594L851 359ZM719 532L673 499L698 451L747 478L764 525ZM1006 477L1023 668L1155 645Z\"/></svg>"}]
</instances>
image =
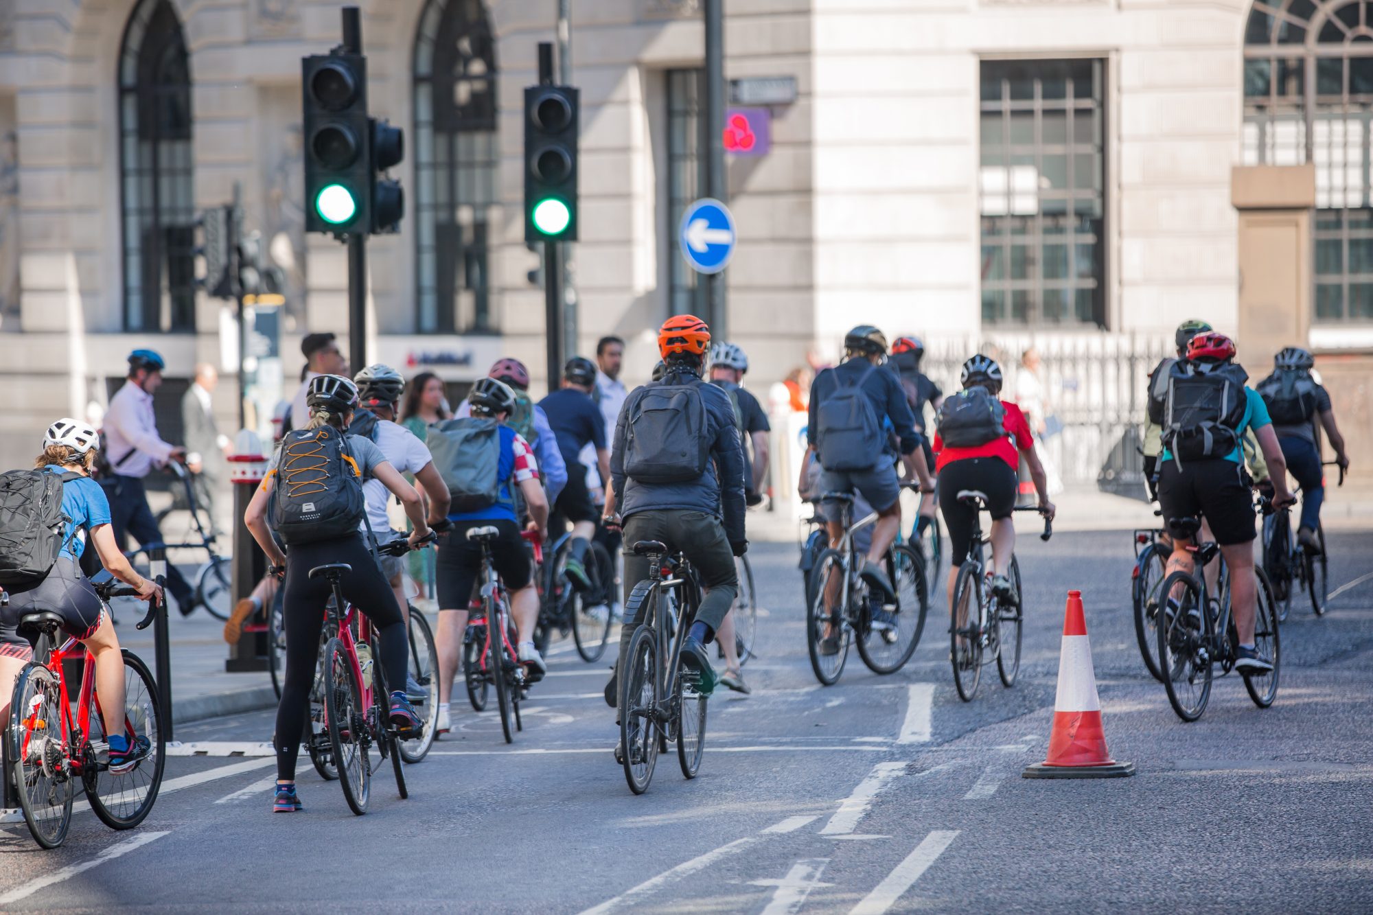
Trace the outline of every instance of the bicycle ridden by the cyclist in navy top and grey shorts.
<instances>
[{"instance_id":1,"label":"bicycle ridden by the cyclist in navy top and grey shorts","mask_svg":"<svg viewBox=\"0 0 1373 915\"><path fill-rule=\"evenodd\" d=\"M850 523L853 493L827 492L820 500L839 503L844 534L838 547L828 547L820 554L810 576L806 599L810 668L820 683L833 686L849 659L849 643L855 642L858 657L869 670L895 673L914 654L925 628L930 588L924 580L924 561L912 547L892 544L887 552L887 577L897 592L897 603L883 609L892 614L894 622L887 631L875 629L868 584L859 577L864 556L854 547L854 533L875 523L877 512ZM838 640L833 654L825 653L827 637Z\"/></svg>"}]
</instances>

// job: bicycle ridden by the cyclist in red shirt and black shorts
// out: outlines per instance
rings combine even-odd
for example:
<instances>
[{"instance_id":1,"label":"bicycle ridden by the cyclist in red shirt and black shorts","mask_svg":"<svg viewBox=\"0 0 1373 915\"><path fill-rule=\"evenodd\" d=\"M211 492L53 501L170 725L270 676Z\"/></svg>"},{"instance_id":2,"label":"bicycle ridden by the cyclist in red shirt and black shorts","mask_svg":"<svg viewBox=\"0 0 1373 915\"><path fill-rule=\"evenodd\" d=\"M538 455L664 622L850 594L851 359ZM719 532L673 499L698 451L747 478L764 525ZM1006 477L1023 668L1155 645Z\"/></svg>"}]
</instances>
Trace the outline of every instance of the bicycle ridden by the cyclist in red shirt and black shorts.
<instances>
[{"instance_id":1,"label":"bicycle ridden by the cyclist in red shirt and black shorts","mask_svg":"<svg viewBox=\"0 0 1373 915\"><path fill-rule=\"evenodd\" d=\"M949 609L949 662L953 666L953 684L958 690L958 698L972 702L982 680L982 666L990 664L990 659L983 661L983 655L995 658L1001 686L1009 690L1016 683L1016 676L1020 673L1024 595L1020 587L1020 563L1015 556L1011 556L1011 581L1015 584L1016 603L1008 606L991 591L991 569L983 559L983 547L991 543L991 539L982 533L982 512L987 510L986 493L962 489L958 492L958 501L972 507L975 514L972 545L968 547L968 558L958 569L953 607ZM1038 506L1017 506L1012 511L1043 514ZM1039 539L1049 540L1052 536L1053 521L1045 518Z\"/></svg>"}]
</instances>

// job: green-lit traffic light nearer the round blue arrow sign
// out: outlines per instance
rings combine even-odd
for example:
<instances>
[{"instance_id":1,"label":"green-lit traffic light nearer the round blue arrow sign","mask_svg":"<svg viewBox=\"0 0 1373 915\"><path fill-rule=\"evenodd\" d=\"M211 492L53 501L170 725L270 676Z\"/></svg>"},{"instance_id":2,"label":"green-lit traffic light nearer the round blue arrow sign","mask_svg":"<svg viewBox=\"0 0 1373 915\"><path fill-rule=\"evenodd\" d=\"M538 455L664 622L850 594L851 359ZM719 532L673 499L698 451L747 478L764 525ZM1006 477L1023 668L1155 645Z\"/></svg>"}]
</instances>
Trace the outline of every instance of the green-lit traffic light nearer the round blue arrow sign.
<instances>
[{"instance_id":1,"label":"green-lit traffic light nearer the round blue arrow sign","mask_svg":"<svg viewBox=\"0 0 1373 915\"><path fill-rule=\"evenodd\" d=\"M578 89L524 89L524 240L577 240Z\"/></svg>"}]
</instances>

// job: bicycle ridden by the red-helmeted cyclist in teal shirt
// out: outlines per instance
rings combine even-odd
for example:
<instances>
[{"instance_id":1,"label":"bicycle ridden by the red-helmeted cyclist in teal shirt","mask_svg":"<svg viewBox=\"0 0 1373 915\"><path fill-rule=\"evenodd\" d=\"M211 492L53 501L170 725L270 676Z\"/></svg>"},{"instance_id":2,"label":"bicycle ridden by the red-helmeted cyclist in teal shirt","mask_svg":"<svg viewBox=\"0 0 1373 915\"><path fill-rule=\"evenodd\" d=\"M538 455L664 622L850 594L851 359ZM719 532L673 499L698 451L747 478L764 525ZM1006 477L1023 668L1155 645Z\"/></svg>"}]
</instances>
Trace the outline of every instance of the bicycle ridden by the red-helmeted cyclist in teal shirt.
<instances>
[{"instance_id":1,"label":"bicycle ridden by the red-helmeted cyclist in teal shirt","mask_svg":"<svg viewBox=\"0 0 1373 915\"><path fill-rule=\"evenodd\" d=\"M1201 519L1182 518L1174 521L1173 528L1178 536L1192 539L1201 529ZM1221 676L1234 669L1240 637L1230 613L1230 569L1221 556L1219 544L1193 543L1186 548L1196 556L1197 574L1174 572L1163 583L1167 603L1160 614L1162 625L1157 626L1159 670L1164 673L1163 687L1168 694L1168 705L1184 721L1196 721L1211 698L1212 668L1219 664ZM1216 599L1210 596L1205 576L1200 574L1212 561L1221 563L1216 585L1221 595ZM1269 577L1259 566L1254 567L1254 576L1255 646L1259 654L1273 658L1273 670L1259 676L1241 676L1249 698L1256 706L1266 709L1278 694L1281 646ZM1218 635L1222 632L1223 636Z\"/></svg>"}]
</instances>

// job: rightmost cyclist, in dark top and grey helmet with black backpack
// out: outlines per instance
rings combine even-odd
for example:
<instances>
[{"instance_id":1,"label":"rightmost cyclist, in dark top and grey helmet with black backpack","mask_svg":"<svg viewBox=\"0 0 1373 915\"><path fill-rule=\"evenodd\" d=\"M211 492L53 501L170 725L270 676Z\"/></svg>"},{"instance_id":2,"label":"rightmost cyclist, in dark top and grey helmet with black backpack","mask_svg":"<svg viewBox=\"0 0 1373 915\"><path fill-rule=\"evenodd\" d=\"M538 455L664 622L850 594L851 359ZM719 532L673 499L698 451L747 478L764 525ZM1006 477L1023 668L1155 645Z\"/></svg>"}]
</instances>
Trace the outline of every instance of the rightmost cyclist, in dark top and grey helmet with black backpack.
<instances>
[{"instance_id":1,"label":"rightmost cyclist, in dark top and grey helmet with black backpack","mask_svg":"<svg viewBox=\"0 0 1373 915\"><path fill-rule=\"evenodd\" d=\"M1335 463L1350 466L1344 436L1335 423L1330 394L1311 376L1315 357L1297 346L1288 346L1273 357L1273 374L1258 383L1258 392L1273 419L1273 431L1282 448L1288 470L1302 486L1302 522L1296 539L1308 552L1321 552L1315 529L1321 523L1325 479L1321 471L1321 448L1315 423L1319 419L1335 448Z\"/></svg>"}]
</instances>

